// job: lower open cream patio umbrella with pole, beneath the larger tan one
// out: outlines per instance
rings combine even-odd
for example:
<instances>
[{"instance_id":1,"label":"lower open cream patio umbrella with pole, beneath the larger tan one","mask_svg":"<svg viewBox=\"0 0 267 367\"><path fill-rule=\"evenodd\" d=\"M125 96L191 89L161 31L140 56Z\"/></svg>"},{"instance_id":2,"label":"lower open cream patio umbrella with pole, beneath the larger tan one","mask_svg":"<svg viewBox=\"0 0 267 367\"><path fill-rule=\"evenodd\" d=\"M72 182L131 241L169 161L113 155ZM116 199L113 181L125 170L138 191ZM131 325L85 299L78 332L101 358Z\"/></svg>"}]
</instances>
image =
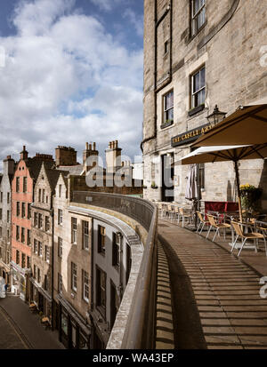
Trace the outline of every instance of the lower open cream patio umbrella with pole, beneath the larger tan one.
<instances>
[{"instance_id":1,"label":"lower open cream patio umbrella with pole, beneath the larger tan one","mask_svg":"<svg viewBox=\"0 0 267 367\"><path fill-rule=\"evenodd\" d=\"M241 145L241 146L213 146L201 147L187 156L183 156L175 164L180 161L182 164L205 164L214 162L232 161L235 167L238 197L239 197L239 217L242 221L242 208L240 201L240 181L239 181L239 160L242 159L258 159L267 157L267 143L257 146Z\"/></svg>"}]
</instances>

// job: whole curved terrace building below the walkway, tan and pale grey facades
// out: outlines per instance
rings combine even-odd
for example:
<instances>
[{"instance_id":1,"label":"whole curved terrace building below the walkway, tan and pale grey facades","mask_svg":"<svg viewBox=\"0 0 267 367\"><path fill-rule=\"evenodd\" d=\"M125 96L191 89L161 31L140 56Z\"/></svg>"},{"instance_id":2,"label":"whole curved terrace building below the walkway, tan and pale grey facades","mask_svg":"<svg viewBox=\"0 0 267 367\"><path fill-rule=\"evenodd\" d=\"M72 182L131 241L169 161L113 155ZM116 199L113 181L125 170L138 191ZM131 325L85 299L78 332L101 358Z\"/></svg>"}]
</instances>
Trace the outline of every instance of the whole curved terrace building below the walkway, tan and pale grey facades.
<instances>
[{"instance_id":1,"label":"whole curved terrace building below the walkway, tan and pale grey facades","mask_svg":"<svg viewBox=\"0 0 267 367\"><path fill-rule=\"evenodd\" d=\"M82 178L61 172L53 197L55 326L65 347L103 348L129 276L127 246L135 234L90 205L93 193Z\"/></svg>"}]
</instances>

